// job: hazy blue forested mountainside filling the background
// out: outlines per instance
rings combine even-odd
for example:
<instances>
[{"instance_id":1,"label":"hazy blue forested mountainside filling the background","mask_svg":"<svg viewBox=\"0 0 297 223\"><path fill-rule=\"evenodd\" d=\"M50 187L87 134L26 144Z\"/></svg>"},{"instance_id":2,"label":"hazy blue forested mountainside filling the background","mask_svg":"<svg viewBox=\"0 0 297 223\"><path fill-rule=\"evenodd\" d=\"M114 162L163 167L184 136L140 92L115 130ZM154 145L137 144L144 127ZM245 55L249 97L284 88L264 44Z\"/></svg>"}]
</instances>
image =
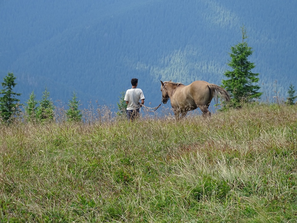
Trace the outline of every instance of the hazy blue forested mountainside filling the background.
<instances>
[{"instance_id":1,"label":"hazy blue forested mountainside filling the background","mask_svg":"<svg viewBox=\"0 0 297 223\"><path fill-rule=\"evenodd\" d=\"M244 24L262 100L285 98L297 86L296 8L288 0L0 0L0 78L15 74L22 102L47 87L54 101L68 103L75 90L83 106L116 106L135 77L154 107L160 80L220 85Z\"/></svg>"}]
</instances>

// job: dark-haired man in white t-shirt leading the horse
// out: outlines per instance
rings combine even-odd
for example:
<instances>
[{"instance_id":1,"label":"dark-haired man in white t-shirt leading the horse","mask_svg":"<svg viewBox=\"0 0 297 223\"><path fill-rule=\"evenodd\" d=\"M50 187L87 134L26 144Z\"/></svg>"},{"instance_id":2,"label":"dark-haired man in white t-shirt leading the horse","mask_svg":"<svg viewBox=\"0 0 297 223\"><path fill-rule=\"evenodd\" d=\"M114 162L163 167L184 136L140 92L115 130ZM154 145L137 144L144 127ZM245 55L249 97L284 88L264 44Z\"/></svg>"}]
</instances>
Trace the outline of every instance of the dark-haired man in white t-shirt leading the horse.
<instances>
[{"instance_id":1,"label":"dark-haired man in white t-shirt leading the horse","mask_svg":"<svg viewBox=\"0 0 297 223\"><path fill-rule=\"evenodd\" d=\"M132 78L131 80L132 88L126 91L124 100L127 104L127 119L134 121L139 117L139 109L144 104L144 95L140 88L137 88L138 79ZM141 100L141 105L139 103Z\"/></svg>"}]
</instances>

